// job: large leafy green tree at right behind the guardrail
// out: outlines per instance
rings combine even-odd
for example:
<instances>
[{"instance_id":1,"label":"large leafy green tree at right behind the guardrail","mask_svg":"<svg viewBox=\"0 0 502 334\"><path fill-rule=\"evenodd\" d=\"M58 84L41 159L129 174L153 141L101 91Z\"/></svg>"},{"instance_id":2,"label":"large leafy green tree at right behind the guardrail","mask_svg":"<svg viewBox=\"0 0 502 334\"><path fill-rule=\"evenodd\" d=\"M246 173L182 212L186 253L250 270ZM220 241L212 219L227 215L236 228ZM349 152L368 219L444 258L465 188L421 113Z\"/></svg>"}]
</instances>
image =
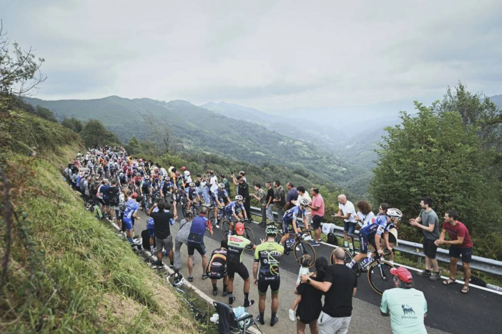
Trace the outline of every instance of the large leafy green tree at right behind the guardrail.
<instances>
[{"instance_id":1,"label":"large leafy green tree at right behind the guardrail","mask_svg":"<svg viewBox=\"0 0 502 334\"><path fill-rule=\"evenodd\" d=\"M420 210L420 198L431 196L438 215L457 210L474 238L496 233L500 240L500 181L482 172L490 160L476 128L464 125L456 112L434 113L418 102L415 107L417 117L402 112L402 124L386 128L369 187L374 203L388 202L411 218ZM421 233L402 224L401 237L419 241ZM479 251L494 256L493 249ZM502 257L502 247L495 253Z\"/></svg>"}]
</instances>

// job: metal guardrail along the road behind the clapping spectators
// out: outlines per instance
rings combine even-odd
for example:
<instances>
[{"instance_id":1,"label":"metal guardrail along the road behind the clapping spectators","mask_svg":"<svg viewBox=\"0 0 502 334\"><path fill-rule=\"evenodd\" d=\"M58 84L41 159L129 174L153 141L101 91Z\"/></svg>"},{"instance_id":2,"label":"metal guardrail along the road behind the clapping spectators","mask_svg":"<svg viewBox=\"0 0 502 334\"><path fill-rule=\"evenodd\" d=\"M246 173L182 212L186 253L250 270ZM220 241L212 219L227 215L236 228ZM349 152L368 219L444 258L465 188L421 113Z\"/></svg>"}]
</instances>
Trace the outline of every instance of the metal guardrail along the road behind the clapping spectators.
<instances>
[{"instance_id":1,"label":"metal guardrail along the road behind the clapping spectators","mask_svg":"<svg viewBox=\"0 0 502 334\"><path fill-rule=\"evenodd\" d=\"M251 212L255 215L258 215L258 216L262 215L262 211L258 207L252 206ZM273 213L274 213L274 218L277 219L277 212L273 212ZM343 236L343 227L335 225L334 233L336 236L342 237ZM358 234L359 231L355 231L355 233ZM411 241L398 239L398 244L394 248L400 252L418 256L419 264L422 260L422 257L425 257L422 244L417 243L417 242L411 242ZM436 252L436 258L438 259L438 261L450 263L450 256L448 255L447 249L438 248L438 250ZM462 261L459 260L458 265L461 266ZM475 270L479 270L479 271L487 272L490 274L502 276L502 261L497 261L497 260L493 260L490 258L485 258L485 257L473 255L472 260L470 262L470 267Z\"/></svg>"}]
</instances>

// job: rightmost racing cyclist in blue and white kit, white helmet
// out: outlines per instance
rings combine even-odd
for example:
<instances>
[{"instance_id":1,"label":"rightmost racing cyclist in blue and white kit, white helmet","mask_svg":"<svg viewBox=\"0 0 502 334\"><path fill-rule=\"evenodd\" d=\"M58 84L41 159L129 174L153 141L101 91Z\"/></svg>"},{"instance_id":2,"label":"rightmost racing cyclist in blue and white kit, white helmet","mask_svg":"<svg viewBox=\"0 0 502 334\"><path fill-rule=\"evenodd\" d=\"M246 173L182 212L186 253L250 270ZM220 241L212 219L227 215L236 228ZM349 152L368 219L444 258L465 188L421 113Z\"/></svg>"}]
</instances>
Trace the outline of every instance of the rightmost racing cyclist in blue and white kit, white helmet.
<instances>
[{"instance_id":1,"label":"rightmost racing cyclist in blue and white kit, white helmet","mask_svg":"<svg viewBox=\"0 0 502 334\"><path fill-rule=\"evenodd\" d=\"M384 250L381 247L380 240L382 233L388 232L392 226L397 224L397 221L401 219L403 213L399 209L389 208L387 203L380 204L379 210L382 214L371 219L371 222L359 230L359 247L360 253L355 255L350 263L347 264L349 268L352 268L354 264L359 262L367 256L365 263L372 261L372 257L376 256L373 252L368 252L368 243L376 249L376 253L379 255L384 254Z\"/></svg>"}]
</instances>

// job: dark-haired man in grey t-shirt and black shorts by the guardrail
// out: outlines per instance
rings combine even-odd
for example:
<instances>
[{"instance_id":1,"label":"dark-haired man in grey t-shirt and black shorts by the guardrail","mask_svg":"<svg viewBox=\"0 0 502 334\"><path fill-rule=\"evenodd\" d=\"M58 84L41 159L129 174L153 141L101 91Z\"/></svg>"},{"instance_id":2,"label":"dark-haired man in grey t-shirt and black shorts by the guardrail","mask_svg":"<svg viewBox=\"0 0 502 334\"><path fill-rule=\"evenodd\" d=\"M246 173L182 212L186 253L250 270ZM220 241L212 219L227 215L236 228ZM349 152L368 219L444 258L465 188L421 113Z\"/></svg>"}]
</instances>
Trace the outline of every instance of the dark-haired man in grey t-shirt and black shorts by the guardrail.
<instances>
[{"instance_id":1,"label":"dark-haired man in grey t-shirt and black shorts by the guardrail","mask_svg":"<svg viewBox=\"0 0 502 334\"><path fill-rule=\"evenodd\" d=\"M435 241L439 238L439 219L432 209L432 198L423 197L420 206L422 210L420 210L418 217L410 219L410 225L419 227L424 232L425 269L417 273L417 276L438 280L441 276L439 275L439 265L436 259L438 246L436 246ZM431 273L431 266L434 270L433 273Z\"/></svg>"}]
</instances>

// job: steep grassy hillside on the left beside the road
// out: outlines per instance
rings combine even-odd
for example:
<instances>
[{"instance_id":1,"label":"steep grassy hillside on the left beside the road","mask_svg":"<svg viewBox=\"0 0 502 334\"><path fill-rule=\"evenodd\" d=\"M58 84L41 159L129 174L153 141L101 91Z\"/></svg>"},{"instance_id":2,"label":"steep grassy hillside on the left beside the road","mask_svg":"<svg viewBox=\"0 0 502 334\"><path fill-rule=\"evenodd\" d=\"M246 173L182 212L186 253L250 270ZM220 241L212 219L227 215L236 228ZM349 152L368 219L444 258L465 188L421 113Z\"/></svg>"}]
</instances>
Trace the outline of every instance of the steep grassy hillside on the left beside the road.
<instances>
[{"instance_id":1,"label":"steep grassy hillside on the left beside the road","mask_svg":"<svg viewBox=\"0 0 502 334\"><path fill-rule=\"evenodd\" d=\"M62 179L60 167L79 149L77 135L24 112L0 116L0 166L19 218L0 287L0 332L203 332L164 280L93 218ZM35 147L36 158L25 154Z\"/></svg>"}]
</instances>

